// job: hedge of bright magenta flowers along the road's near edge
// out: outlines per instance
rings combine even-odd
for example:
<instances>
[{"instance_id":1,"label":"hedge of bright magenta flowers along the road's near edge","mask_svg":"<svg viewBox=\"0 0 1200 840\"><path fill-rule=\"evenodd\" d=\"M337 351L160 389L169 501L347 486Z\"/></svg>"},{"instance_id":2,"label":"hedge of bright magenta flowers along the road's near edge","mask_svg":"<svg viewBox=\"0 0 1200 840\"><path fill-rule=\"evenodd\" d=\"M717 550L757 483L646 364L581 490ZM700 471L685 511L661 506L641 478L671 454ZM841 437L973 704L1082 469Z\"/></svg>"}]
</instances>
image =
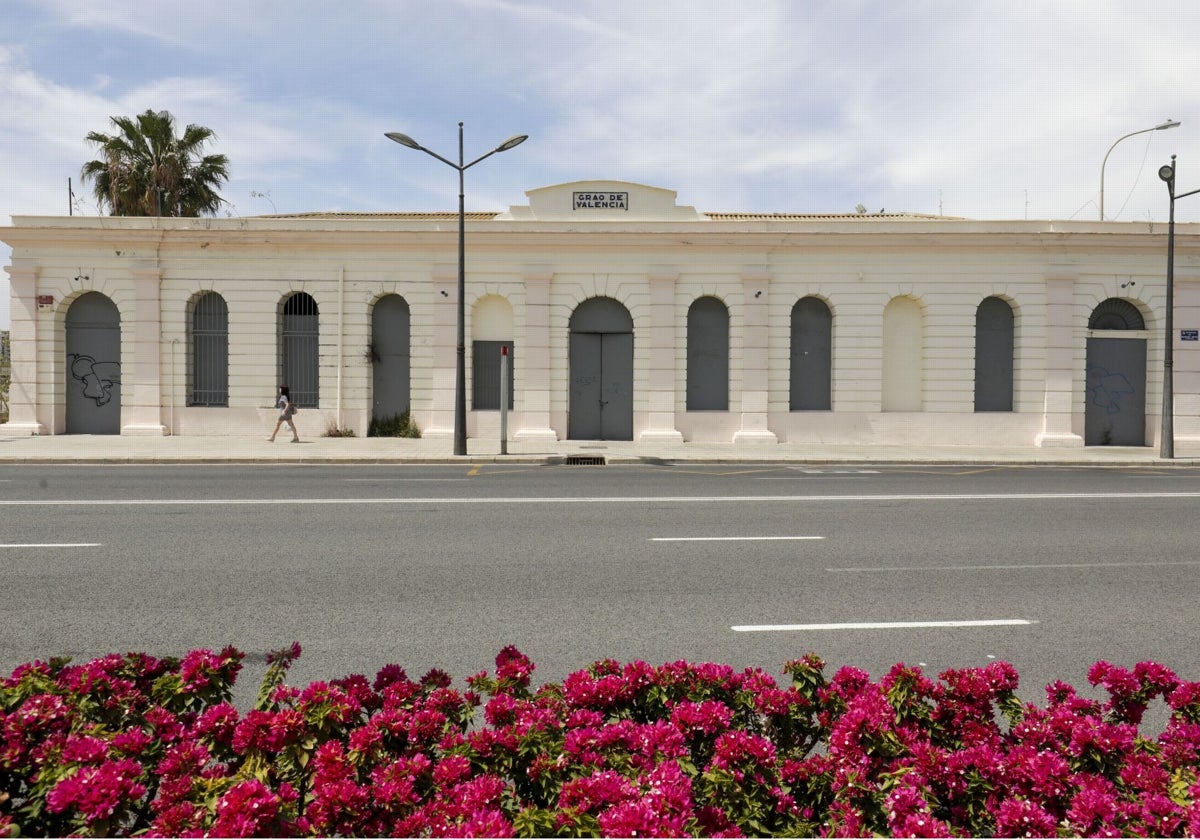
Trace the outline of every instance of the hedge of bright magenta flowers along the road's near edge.
<instances>
[{"instance_id":1,"label":"hedge of bright magenta flowers along the road's near edge","mask_svg":"<svg viewBox=\"0 0 1200 840\"><path fill-rule=\"evenodd\" d=\"M1106 701L1055 683L1038 707L1004 662L876 683L808 655L780 684L605 660L535 690L509 647L466 690L396 665L299 689L299 655L269 658L246 714L233 648L18 667L0 836L1200 834L1200 683L1154 662L1097 662Z\"/></svg>"}]
</instances>

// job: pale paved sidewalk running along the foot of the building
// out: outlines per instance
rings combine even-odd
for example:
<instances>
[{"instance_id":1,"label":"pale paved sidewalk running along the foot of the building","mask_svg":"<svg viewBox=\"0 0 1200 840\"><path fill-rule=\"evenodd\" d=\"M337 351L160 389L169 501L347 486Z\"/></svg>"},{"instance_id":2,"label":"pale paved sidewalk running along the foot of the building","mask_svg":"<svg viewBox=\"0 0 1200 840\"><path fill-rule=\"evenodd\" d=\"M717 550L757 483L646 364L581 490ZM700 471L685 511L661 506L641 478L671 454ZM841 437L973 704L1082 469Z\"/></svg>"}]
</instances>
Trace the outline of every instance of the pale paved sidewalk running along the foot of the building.
<instances>
[{"instance_id":1,"label":"pale paved sidewalk running along the foot of the building","mask_svg":"<svg viewBox=\"0 0 1200 840\"><path fill-rule=\"evenodd\" d=\"M517 443L500 455L498 440L472 439L452 455L449 438L311 438L293 444L262 437L5 436L4 463L811 463L811 464L1061 464L1200 466L1200 443L1176 443L1175 458L1158 446L883 446L823 444L642 444L629 440Z\"/></svg>"}]
</instances>

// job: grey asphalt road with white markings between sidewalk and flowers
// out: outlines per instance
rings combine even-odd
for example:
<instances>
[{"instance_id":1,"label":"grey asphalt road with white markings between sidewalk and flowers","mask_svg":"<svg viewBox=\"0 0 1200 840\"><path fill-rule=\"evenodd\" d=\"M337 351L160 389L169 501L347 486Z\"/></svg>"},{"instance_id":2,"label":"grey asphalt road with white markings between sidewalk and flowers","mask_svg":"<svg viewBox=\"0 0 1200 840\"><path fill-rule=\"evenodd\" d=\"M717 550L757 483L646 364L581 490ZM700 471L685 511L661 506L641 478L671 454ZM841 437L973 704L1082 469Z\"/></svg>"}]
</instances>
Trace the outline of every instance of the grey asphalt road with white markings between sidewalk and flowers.
<instances>
[{"instance_id":1,"label":"grey asphalt road with white markings between sidewalk and flowers","mask_svg":"<svg viewBox=\"0 0 1200 840\"><path fill-rule=\"evenodd\" d=\"M516 644L829 673L1097 659L1200 679L1200 470L800 466L4 466L0 671L299 641L292 682L462 680Z\"/></svg>"}]
</instances>

